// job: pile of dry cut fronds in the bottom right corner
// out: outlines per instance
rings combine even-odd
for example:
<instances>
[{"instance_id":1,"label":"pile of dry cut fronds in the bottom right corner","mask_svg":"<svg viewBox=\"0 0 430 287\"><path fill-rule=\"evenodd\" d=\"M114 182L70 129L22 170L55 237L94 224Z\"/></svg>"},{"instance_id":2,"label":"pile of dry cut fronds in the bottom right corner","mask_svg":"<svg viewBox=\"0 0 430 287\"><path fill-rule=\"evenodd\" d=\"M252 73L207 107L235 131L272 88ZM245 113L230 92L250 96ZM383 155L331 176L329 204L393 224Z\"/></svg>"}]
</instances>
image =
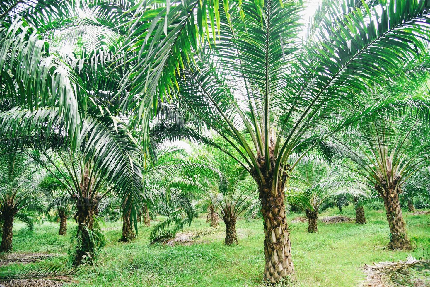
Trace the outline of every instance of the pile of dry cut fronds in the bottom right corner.
<instances>
[{"instance_id":1,"label":"pile of dry cut fronds in the bottom right corner","mask_svg":"<svg viewBox=\"0 0 430 287\"><path fill-rule=\"evenodd\" d=\"M365 281L359 286L365 287L394 287L430 286L430 260L416 260L408 256L405 262L380 262L373 266L365 265Z\"/></svg>"}]
</instances>

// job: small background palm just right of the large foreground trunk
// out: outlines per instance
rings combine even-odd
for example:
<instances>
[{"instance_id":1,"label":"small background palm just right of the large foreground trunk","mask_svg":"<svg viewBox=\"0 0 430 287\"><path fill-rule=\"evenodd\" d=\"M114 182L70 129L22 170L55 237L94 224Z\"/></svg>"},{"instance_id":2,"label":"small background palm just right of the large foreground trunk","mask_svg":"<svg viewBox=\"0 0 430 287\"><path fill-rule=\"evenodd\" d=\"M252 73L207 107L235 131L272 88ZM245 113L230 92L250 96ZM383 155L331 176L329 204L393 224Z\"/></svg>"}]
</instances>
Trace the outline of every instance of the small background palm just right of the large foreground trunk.
<instances>
[{"instance_id":1,"label":"small background palm just right of the large foreground trunk","mask_svg":"<svg viewBox=\"0 0 430 287\"><path fill-rule=\"evenodd\" d=\"M301 208L306 214L307 232L317 232L318 212L324 208L331 196L340 188L337 175L322 159L306 157L302 159L286 186L287 201Z\"/></svg>"}]
</instances>

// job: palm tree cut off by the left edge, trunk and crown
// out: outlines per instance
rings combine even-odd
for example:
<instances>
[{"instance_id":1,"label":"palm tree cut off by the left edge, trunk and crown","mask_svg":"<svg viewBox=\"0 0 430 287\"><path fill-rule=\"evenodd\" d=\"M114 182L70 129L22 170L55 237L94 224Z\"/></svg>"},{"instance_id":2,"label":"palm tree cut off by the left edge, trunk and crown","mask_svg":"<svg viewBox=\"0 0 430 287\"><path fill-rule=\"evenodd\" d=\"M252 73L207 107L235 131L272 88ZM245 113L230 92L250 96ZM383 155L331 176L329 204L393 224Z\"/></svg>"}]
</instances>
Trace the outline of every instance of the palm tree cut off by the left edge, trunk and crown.
<instances>
[{"instance_id":1,"label":"palm tree cut off by the left edge, trunk and crown","mask_svg":"<svg viewBox=\"0 0 430 287\"><path fill-rule=\"evenodd\" d=\"M43 212L40 192L35 188L36 168L19 150L2 150L0 153L0 219L3 223L0 251L12 250L13 222L15 218L33 230L31 211Z\"/></svg>"}]
</instances>

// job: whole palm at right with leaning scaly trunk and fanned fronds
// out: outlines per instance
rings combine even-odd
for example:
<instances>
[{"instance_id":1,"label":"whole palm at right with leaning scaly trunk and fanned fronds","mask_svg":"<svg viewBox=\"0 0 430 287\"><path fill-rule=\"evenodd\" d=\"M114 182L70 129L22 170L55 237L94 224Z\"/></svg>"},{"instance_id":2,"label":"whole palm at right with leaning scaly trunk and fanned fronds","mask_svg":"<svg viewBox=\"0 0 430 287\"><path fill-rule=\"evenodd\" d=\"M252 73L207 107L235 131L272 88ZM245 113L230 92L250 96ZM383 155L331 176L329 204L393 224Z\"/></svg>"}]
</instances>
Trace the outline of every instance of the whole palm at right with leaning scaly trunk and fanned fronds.
<instances>
[{"instance_id":1,"label":"whole palm at right with leaning scaly trunk and fanned fronds","mask_svg":"<svg viewBox=\"0 0 430 287\"><path fill-rule=\"evenodd\" d=\"M381 116L363 122L359 131L349 135L349 144L340 144L345 155L358 166L351 169L365 177L370 182L365 184L384 200L392 249L411 248L399 195L405 181L426 165L429 148L426 131L425 126L408 114L396 120Z\"/></svg>"}]
</instances>

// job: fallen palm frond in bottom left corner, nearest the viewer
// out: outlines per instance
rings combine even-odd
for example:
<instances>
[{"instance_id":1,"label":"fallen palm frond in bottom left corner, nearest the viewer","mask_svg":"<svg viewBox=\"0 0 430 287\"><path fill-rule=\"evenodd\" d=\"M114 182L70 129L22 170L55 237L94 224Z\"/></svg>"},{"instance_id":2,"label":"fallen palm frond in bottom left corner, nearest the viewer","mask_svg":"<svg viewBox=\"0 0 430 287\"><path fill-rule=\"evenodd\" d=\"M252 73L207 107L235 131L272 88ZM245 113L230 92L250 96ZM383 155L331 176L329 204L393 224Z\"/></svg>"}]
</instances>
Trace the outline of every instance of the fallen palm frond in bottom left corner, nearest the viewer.
<instances>
[{"instance_id":1,"label":"fallen palm frond in bottom left corner, nearest the viewer","mask_svg":"<svg viewBox=\"0 0 430 287\"><path fill-rule=\"evenodd\" d=\"M28 266L28 265L24 266L18 272L7 272L7 275L0 276L0 282L9 282L9 281L12 282L17 280L18 281L24 280L25 282L28 283L28 280L43 279L48 281L63 281L63 282L77 283L76 280L72 280L71 278L74 276L81 275L83 273L84 273L83 268L70 268L68 266L64 266L60 264L39 263L31 266ZM33 285L28 285L28 286L33 286Z\"/></svg>"}]
</instances>

